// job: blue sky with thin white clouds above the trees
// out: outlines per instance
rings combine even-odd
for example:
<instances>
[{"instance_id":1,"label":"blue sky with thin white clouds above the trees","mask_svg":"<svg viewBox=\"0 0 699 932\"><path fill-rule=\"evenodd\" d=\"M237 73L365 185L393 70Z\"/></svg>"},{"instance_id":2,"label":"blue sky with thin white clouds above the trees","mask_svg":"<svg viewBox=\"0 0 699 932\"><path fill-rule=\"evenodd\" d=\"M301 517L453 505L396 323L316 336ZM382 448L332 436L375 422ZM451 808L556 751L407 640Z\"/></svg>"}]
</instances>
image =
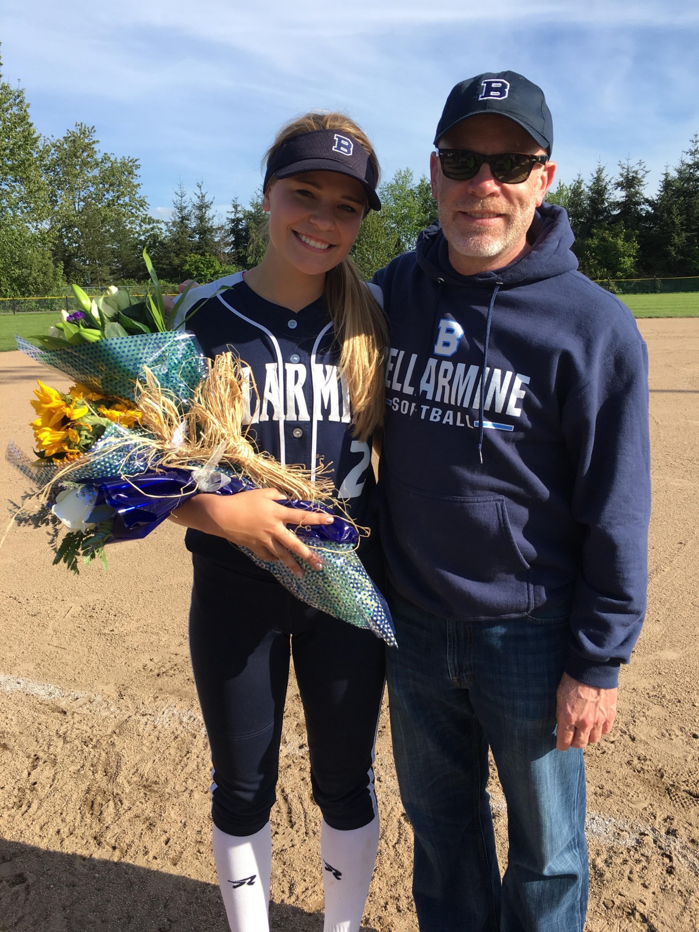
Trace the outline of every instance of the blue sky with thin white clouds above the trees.
<instances>
[{"instance_id":1,"label":"blue sky with thin white clouds above the trees","mask_svg":"<svg viewBox=\"0 0 699 932\"><path fill-rule=\"evenodd\" d=\"M446 94L484 71L544 89L567 182L630 156L652 193L699 131L699 5L676 0L5 0L0 39L37 129L94 124L161 216L179 179L246 203L275 130L314 107L354 117L384 177L418 176Z\"/></svg>"}]
</instances>

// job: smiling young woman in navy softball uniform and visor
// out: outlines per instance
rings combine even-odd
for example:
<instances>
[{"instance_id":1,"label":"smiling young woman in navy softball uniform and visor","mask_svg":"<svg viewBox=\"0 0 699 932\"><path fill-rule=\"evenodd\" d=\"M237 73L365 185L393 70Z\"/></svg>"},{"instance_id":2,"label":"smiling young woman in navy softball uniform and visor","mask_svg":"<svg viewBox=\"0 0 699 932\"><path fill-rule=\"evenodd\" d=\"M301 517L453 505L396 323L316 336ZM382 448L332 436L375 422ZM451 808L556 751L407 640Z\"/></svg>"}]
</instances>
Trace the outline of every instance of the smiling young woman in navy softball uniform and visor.
<instances>
[{"instance_id":1,"label":"smiling young woman in navy softball uniform and visor","mask_svg":"<svg viewBox=\"0 0 699 932\"><path fill-rule=\"evenodd\" d=\"M348 117L295 120L267 152L262 262L187 295L189 307L206 298L190 325L204 351L235 349L250 367L257 398L251 391L248 419L258 448L308 469L319 458L332 464L338 496L361 525L371 525L370 437L383 414L386 332L349 250L364 214L380 208L377 182L371 144ZM216 294L222 282L229 287ZM324 928L351 932L378 843L372 766L383 642L310 609L231 546L297 573L295 556L319 568L287 525L332 517L300 515L282 498L274 489L199 495L174 515L189 528L194 563L190 647L212 750L213 854L231 929L267 929L269 812L293 654L322 811ZM376 541L365 541L360 555L377 579Z\"/></svg>"}]
</instances>

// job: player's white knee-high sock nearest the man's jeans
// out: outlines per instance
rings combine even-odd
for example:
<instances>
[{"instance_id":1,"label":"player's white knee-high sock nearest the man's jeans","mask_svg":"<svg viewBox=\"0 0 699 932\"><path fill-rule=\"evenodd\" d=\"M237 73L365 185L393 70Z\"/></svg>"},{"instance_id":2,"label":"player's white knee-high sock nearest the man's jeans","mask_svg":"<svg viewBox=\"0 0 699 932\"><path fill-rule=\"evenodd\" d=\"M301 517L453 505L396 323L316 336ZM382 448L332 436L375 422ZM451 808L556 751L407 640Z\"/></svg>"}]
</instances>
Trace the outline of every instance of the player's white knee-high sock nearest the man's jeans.
<instances>
[{"instance_id":1,"label":"player's white knee-high sock nearest the man's jeans","mask_svg":"<svg viewBox=\"0 0 699 932\"><path fill-rule=\"evenodd\" d=\"M378 847L378 815L361 829L321 825L323 932L358 932Z\"/></svg>"}]
</instances>

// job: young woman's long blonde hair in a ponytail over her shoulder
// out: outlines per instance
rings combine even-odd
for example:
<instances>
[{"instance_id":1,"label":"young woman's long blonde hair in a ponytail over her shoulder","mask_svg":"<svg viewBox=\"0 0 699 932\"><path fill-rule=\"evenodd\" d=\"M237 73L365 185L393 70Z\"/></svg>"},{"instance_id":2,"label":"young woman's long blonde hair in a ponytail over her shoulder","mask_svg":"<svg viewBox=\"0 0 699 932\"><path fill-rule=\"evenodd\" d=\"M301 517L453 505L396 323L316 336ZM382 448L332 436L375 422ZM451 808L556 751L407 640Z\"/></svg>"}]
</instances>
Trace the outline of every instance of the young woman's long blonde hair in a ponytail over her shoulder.
<instances>
[{"instance_id":1,"label":"young woman's long blonde hair in a ponytail over her shoulder","mask_svg":"<svg viewBox=\"0 0 699 932\"><path fill-rule=\"evenodd\" d=\"M337 130L353 136L369 156L378 184L374 148L363 130L345 114L313 111L287 123L267 150L265 165L282 143L313 130ZM366 440L383 423L384 354L389 339L383 311L349 255L326 273L325 301L340 346L339 371L347 378L352 433Z\"/></svg>"}]
</instances>

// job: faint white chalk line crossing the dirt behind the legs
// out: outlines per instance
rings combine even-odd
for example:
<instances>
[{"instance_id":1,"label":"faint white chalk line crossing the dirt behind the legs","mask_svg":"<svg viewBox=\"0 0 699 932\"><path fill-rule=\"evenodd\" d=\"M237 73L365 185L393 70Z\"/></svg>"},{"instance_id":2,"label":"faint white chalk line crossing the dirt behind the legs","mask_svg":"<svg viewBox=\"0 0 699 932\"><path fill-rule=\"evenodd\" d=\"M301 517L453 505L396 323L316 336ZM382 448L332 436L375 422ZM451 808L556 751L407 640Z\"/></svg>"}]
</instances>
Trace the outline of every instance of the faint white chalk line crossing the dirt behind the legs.
<instances>
[{"instance_id":1,"label":"faint white chalk line crossing the dirt behind the legs","mask_svg":"<svg viewBox=\"0 0 699 932\"><path fill-rule=\"evenodd\" d=\"M68 706L68 710L89 711L97 715L123 714L123 709L117 709L116 706L110 705L98 693L62 690L60 686L36 682L33 679L12 677L6 673L0 673L0 692L21 692L23 695L31 695L37 699L62 702ZM184 726L188 731L205 733L204 723L199 712L194 712L191 709L183 709L172 705L165 706L158 711L147 711L143 707L139 707L132 715L153 725L164 727L180 725ZM291 747L292 744L293 742L288 742L289 747L283 747L282 751L284 753L298 751L298 746ZM503 797L491 799L490 805L494 813L506 812ZM626 822L624 819L588 812L585 820L585 831L588 838L594 838L600 843L618 848L637 847L642 838L650 836L657 849L676 857L695 877L699 877L699 859L695 856L692 848L687 843L665 835L651 825L643 822Z\"/></svg>"}]
</instances>

